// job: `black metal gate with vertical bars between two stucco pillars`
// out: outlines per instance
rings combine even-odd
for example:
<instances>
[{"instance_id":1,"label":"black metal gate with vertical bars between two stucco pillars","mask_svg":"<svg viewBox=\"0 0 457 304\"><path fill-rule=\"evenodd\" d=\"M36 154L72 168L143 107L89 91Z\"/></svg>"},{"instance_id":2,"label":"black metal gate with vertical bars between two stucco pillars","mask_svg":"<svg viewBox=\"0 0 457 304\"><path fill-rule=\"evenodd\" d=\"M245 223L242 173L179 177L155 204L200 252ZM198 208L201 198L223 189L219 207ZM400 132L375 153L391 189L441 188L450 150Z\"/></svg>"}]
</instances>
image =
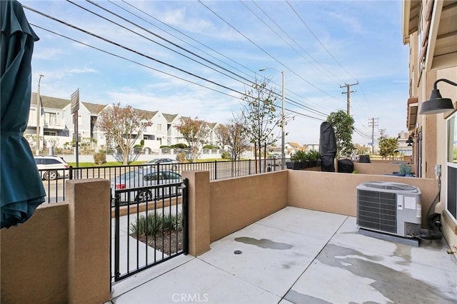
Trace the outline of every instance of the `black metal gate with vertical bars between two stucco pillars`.
<instances>
[{"instance_id":1,"label":"black metal gate with vertical bars between two stucco pillars","mask_svg":"<svg viewBox=\"0 0 457 304\"><path fill-rule=\"evenodd\" d=\"M187 186L185 178L112 190L111 278L115 282L189 252Z\"/></svg>"}]
</instances>

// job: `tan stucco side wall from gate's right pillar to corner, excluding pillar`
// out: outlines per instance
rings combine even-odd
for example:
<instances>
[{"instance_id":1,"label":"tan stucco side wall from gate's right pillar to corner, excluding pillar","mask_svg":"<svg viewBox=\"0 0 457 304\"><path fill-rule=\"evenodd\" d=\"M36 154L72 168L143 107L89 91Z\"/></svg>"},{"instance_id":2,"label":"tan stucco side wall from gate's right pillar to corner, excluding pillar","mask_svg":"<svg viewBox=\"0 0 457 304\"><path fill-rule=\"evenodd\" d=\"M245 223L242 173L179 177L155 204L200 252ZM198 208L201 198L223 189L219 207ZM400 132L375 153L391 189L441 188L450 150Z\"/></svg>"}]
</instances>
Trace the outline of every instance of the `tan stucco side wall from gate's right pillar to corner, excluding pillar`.
<instances>
[{"instance_id":1,"label":"tan stucco side wall from gate's right pillar to corner, excluding pillar","mask_svg":"<svg viewBox=\"0 0 457 304\"><path fill-rule=\"evenodd\" d=\"M211 242L287 206L288 171L210 183Z\"/></svg>"}]
</instances>

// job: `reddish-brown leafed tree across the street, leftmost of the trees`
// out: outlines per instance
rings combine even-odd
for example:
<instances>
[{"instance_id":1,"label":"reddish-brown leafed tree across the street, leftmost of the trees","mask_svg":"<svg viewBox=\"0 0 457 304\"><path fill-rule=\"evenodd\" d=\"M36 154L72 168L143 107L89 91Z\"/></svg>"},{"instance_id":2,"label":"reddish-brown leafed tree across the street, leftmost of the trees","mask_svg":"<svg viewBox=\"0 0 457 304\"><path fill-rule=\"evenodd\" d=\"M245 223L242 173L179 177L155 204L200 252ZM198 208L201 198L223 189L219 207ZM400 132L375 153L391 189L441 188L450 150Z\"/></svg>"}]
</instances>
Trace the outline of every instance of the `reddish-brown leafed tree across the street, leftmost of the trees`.
<instances>
[{"instance_id":1,"label":"reddish-brown leafed tree across the street, leftmost of the trees","mask_svg":"<svg viewBox=\"0 0 457 304\"><path fill-rule=\"evenodd\" d=\"M97 127L105 133L106 138L111 138L121 151L121 161L124 165L131 162L131 151L136 138L141 138L145 128L152 125L141 111L121 103L114 104L100 113L96 122Z\"/></svg>"}]
</instances>

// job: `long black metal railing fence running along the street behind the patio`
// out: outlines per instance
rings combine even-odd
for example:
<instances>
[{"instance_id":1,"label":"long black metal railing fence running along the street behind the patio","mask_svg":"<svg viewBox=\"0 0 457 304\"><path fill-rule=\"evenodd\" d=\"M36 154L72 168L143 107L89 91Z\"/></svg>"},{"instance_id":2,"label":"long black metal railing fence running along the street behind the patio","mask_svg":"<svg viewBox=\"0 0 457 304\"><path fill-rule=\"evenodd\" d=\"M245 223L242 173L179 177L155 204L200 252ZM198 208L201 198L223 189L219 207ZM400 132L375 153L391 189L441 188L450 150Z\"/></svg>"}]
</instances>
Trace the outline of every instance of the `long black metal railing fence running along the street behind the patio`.
<instances>
[{"instance_id":1,"label":"long black metal railing fence running along the street behind the patio","mask_svg":"<svg viewBox=\"0 0 457 304\"><path fill-rule=\"evenodd\" d=\"M57 203L65 200L65 182L70 179L82 178L105 178L111 183L111 193L124 188L151 186L152 184L169 183L181 178L184 171L209 171L211 181L233 178L239 176L249 176L256 173L281 170L281 160L261 160L261 161L208 161L200 163L166 163L155 165L135 165L135 166L109 166L109 167L84 167L66 168L58 170L41 169L41 176L46 176L46 172L54 171L54 180L44 180L46 190L46 203ZM130 172L133 172L129 174ZM134 172L138 173L135 174ZM149 176L154 172L155 176ZM171 173L169 173L171 172ZM127 176L126 176L127 173ZM180 176L176 177L172 173ZM130 178L131 177L131 178ZM151 179L156 178L155 183ZM148 181L145 181L147 179Z\"/></svg>"}]
</instances>

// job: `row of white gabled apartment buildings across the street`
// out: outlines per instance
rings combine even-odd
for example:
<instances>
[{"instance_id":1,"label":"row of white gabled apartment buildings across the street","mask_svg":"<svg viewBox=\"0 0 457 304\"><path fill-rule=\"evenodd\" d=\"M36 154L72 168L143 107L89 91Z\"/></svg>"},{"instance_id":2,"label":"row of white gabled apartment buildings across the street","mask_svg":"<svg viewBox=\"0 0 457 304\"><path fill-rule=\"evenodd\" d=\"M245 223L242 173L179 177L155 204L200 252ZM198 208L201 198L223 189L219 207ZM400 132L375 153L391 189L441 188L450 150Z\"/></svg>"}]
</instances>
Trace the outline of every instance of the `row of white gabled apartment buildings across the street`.
<instances>
[{"instance_id":1,"label":"row of white gabled apartment buildings across the street","mask_svg":"<svg viewBox=\"0 0 457 304\"><path fill-rule=\"evenodd\" d=\"M74 138L74 116L71 113L71 101L69 99L54 98L51 96L41 95L41 114L37 116L37 94L31 93L31 108L29 112L29 121L27 123L26 134L36 135L37 119L39 119L40 137L43 146L55 146L64 148L70 146ZM93 138L96 148L114 147L114 143L107 142L103 131L99 130L96 121L99 114L106 108L112 107L112 104L97 104L80 102L78 111L78 133L79 141L89 141ZM160 146L171 146L176 143L186 143L183 136L176 126L181 123L180 114L161 113L161 111L140 111L148 121L152 122L148 126L141 138L137 138L136 143L144 140L144 148L151 150L159 149ZM215 129L218 123L208 123L211 132L206 142L212 145L218 145Z\"/></svg>"}]
</instances>

